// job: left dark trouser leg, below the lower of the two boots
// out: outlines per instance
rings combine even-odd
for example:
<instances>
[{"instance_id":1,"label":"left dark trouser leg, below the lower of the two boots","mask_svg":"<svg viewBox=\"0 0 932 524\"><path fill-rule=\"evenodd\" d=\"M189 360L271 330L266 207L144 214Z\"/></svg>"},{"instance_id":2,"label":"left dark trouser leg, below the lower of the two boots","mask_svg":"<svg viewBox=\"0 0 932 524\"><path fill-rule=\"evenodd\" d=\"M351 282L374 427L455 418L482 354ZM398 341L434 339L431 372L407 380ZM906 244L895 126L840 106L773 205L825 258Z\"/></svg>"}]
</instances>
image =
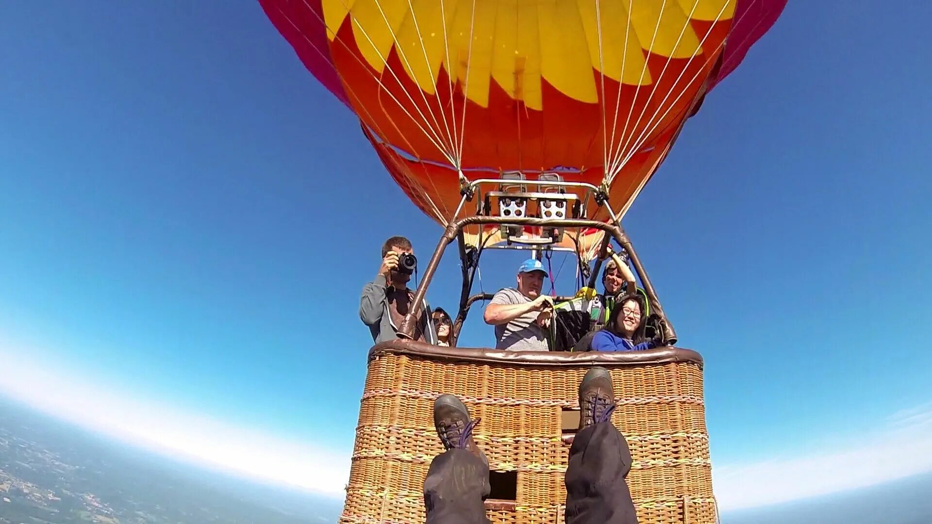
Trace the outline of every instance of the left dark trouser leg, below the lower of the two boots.
<instances>
[{"instance_id":1,"label":"left dark trouser leg, below the lower of the two boots","mask_svg":"<svg viewBox=\"0 0 932 524\"><path fill-rule=\"evenodd\" d=\"M424 480L427 524L490 524L488 466L472 452L453 448L434 457Z\"/></svg>"}]
</instances>

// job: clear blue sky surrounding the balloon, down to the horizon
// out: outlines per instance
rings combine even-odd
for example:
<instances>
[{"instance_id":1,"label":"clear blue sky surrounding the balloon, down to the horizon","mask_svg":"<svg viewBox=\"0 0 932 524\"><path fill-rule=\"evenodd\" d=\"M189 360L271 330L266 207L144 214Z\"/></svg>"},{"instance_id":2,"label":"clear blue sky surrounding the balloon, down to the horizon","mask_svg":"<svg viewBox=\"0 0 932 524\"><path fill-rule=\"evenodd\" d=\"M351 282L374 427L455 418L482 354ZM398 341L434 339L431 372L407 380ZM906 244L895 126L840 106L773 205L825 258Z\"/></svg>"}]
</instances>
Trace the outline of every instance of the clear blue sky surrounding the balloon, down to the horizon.
<instances>
[{"instance_id":1,"label":"clear blue sky surrounding the balloon, down to the horizon","mask_svg":"<svg viewBox=\"0 0 932 524\"><path fill-rule=\"evenodd\" d=\"M742 490L807 467L854 487L818 462L842 451L884 478L932 469L930 15L791 3L625 218L706 359L720 498L773 502ZM348 469L359 291L385 238L426 257L441 233L349 111L253 3L7 5L0 48L0 389L193 458L223 462L204 455L234 432L227 459L286 442ZM388 205L337 198L350 186ZM483 287L519 259L488 255ZM458 272L445 257L432 304L455 303ZM462 342L489 344L471 318ZM902 432L912 461L870 445Z\"/></svg>"}]
</instances>

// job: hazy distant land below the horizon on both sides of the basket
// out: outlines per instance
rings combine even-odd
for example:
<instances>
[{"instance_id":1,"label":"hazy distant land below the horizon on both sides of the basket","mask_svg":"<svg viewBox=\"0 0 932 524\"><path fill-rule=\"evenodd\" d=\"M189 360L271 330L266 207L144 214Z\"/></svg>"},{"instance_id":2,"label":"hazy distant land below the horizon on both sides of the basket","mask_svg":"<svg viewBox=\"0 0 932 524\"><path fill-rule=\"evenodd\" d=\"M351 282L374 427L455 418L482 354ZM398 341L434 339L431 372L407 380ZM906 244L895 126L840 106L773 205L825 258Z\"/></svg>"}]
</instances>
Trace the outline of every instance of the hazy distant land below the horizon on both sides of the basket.
<instances>
[{"instance_id":1,"label":"hazy distant land below the horizon on both sides of the basket","mask_svg":"<svg viewBox=\"0 0 932 524\"><path fill-rule=\"evenodd\" d=\"M174 462L0 398L0 524L322 524L340 503ZM932 524L932 474L721 524Z\"/></svg>"}]
</instances>

